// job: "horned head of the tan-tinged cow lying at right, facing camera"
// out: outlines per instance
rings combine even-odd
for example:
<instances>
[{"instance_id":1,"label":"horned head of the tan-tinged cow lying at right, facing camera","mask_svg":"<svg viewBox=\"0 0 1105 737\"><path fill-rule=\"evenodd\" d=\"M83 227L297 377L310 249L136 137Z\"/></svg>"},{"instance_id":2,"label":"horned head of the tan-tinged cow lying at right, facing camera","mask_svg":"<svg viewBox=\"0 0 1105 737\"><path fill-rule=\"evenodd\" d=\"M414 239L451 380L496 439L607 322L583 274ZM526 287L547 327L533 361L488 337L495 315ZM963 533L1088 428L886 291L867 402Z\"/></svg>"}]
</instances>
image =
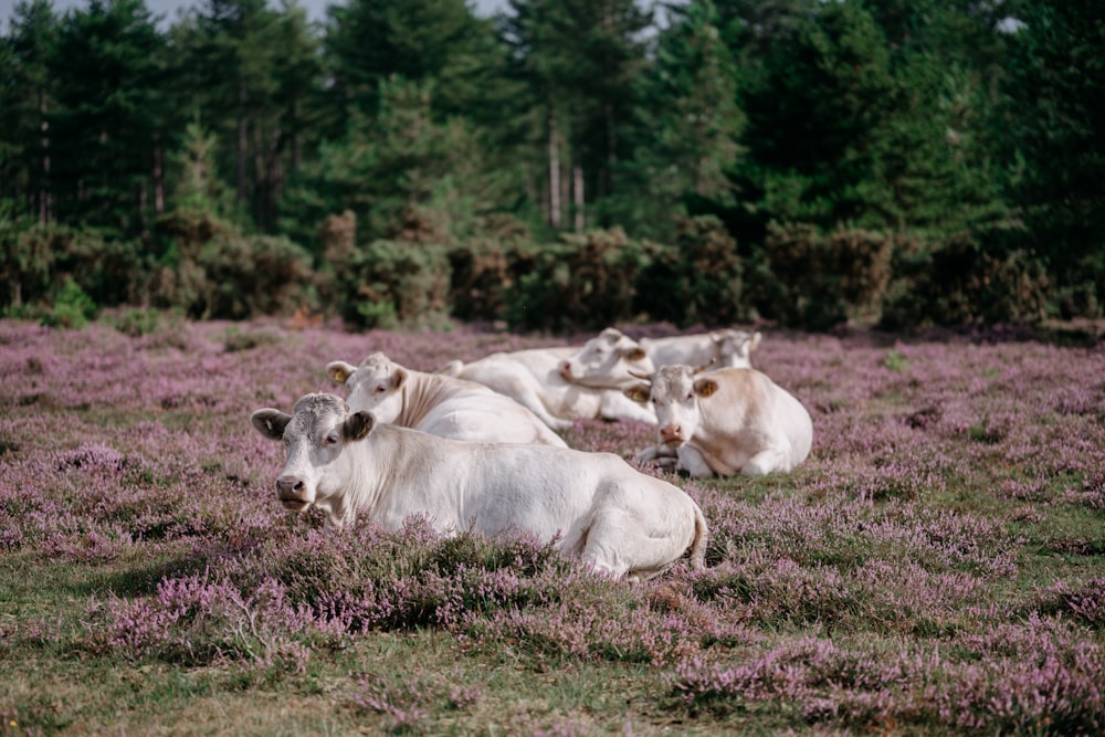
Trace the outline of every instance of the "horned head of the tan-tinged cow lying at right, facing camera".
<instances>
[{"instance_id":1,"label":"horned head of the tan-tinged cow lying at right, facing camera","mask_svg":"<svg viewBox=\"0 0 1105 737\"><path fill-rule=\"evenodd\" d=\"M712 361L713 362L713 361ZM708 375L695 378L706 366L662 366L651 376L639 376L645 383L636 383L624 394L642 404L652 402L656 412L656 434L662 445L676 449L690 441L698 429L698 402L717 391L718 383Z\"/></svg>"}]
</instances>

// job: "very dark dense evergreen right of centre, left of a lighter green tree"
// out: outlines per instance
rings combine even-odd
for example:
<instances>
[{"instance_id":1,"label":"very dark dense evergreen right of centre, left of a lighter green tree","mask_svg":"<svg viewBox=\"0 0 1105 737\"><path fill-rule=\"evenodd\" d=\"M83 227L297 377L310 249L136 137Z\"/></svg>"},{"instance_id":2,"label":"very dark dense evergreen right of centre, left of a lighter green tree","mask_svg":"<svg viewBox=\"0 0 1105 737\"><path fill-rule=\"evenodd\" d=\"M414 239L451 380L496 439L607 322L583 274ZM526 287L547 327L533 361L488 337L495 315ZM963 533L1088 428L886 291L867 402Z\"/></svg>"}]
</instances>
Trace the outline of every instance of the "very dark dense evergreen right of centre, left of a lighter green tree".
<instances>
[{"instance_id":1,"label":"very dark dense evergreen right of centre, left of a lighter green tree","mask_svg":"<svg viewBox=\"0 0 1105 737\"><path fill-rule=\"evenodd\" d=\"M870 13L824 6L776 41L746 88L746 191L780 220L831 228L861 217L878 197L874 147L899 102Z\"/></svg>"}]
</instances>

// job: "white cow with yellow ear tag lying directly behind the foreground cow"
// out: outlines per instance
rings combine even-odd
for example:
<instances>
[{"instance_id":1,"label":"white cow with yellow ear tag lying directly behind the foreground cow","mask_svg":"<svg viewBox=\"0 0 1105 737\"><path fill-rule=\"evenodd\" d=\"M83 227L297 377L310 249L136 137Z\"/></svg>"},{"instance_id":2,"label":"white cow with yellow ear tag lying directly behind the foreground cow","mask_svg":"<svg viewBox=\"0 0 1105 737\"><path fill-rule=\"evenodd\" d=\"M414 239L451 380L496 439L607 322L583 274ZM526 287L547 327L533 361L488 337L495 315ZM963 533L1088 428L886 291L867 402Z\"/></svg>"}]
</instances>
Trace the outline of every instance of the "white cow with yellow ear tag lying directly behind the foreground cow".
<instances>
[{"instance_id":1,"label":"white cow with yellow ear tag lying directly behind the foreground cow","mask_svg":"<svg viewBox=\"0 0 1105 737\"><path fill-rule=\"evenodd\" d=\"M533 412L487 387L404 368L381 352L352 366L330 361L326 373L349 388L349 407L380 422L454 440L545 443L567 448Z\"/></svg>"}]
</instances>

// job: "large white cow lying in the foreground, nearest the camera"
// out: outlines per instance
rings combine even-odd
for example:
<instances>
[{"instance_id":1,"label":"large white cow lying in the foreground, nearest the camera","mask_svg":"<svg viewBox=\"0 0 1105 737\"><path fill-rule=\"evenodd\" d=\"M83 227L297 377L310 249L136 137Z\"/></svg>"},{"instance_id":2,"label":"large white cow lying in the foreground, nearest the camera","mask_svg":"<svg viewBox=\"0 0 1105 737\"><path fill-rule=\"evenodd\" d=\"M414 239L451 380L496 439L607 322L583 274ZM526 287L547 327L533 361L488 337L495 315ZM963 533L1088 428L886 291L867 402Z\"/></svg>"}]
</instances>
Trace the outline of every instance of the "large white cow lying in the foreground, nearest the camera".
<instances>
[{"instance_id":1,"label":"large white cow lying in the foreground, nearest the camera","mask_svg":"<svg viewBox=\"0 0 1105 737\"><path fill-rule=\"evenodd\" d=\"M306 394L293 414L263 409L253 427L283 440L281 504L311 506L340 528L364 515L390 530L411 515L444 534L532 533L596 570L643 580L690 548L704 567L706 520L683 491L612 453L434 438L352 412L334 394Z\"/></svg>"}]
</instances>

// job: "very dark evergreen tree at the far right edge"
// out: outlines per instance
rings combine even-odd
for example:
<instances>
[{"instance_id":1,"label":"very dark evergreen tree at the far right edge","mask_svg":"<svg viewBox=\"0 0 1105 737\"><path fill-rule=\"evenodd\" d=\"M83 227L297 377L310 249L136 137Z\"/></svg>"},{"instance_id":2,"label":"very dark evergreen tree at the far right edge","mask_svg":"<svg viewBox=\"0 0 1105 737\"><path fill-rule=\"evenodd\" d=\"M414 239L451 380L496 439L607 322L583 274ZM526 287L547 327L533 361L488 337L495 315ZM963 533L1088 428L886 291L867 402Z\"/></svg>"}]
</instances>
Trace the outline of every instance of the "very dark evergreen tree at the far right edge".
<instances>
[{"instance_id":1,"label":"very dark evergreen tree at the far right edge","mask_svg":"<svg viewBox=\"0 0 1105 737\"><path fill-rule=\"evenodd\" d=\"M1007 125L1013 194L1067 314L1105 312L1105 6L1031 0L1012 34Z\"/></svg>"}]
</instances>

